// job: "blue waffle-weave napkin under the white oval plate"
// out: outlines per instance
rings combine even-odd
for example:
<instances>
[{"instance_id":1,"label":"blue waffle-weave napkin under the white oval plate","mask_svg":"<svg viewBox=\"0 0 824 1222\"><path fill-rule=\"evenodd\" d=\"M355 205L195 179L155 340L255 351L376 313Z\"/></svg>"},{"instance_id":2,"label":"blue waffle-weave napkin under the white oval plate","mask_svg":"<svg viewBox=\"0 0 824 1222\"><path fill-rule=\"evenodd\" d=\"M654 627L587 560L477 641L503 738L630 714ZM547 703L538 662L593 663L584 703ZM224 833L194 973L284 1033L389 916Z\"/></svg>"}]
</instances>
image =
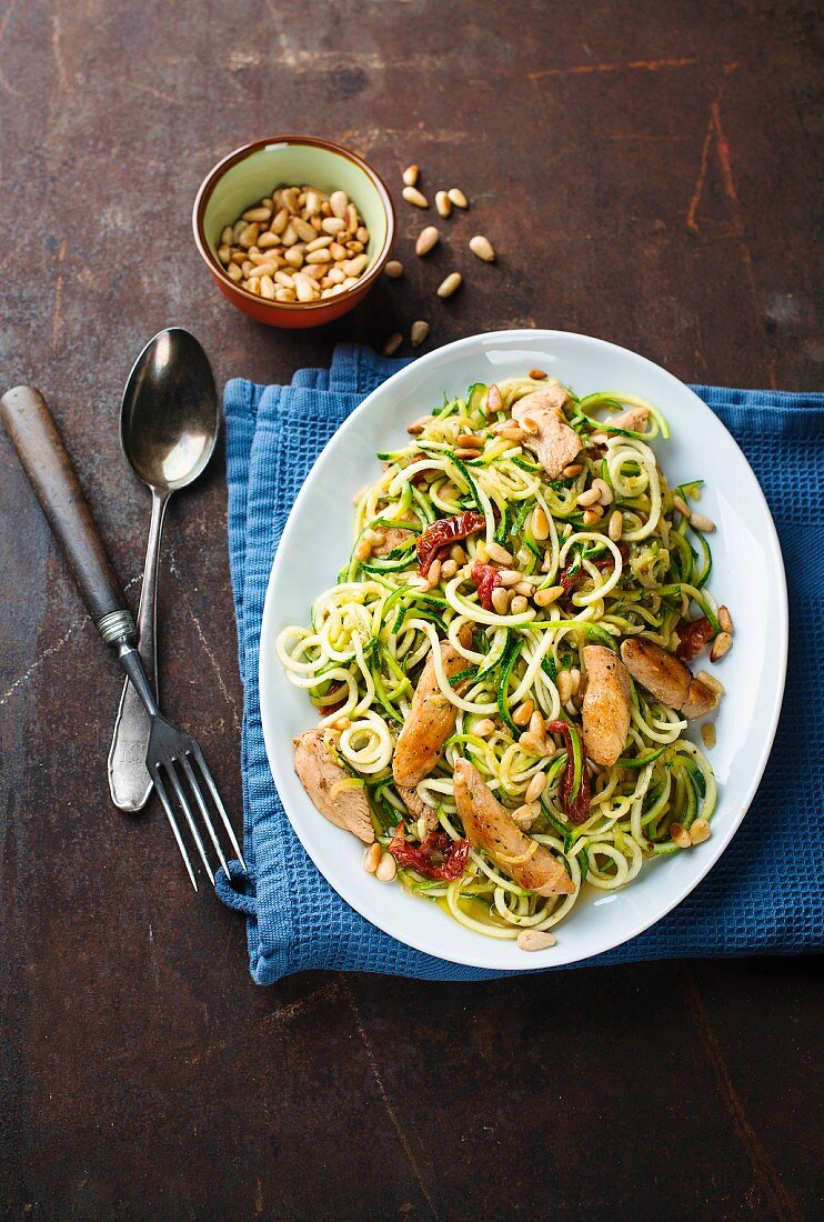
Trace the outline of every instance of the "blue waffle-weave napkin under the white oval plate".
<instances>
[{"instance_id":1,"label":"blue waffle-weave napkin under the white oval plate","mask_svg":"<svg viewBox=\"0 0 824 1222\"><path fill-rule=\"evenodd\" d=\"M258 646L272 557L315 458L363 398L407 362L336 348L332 368L303 369L291 386L236 379L225 392L228 544L243 709L243 807L249 877L221 871L221 899L247 915L251 975L337 968L431 980L499 975L413 951L355 913L319 874L292 831L269 770L258 697ZM790 591L787 694L753 805L692 895L646 934L587 964L757 953L824 945L820 887L824 772L824 395L693 390L735 435L778 527ZM237 888L237 890L236 890Z\"/></svg>"}]
</instances>

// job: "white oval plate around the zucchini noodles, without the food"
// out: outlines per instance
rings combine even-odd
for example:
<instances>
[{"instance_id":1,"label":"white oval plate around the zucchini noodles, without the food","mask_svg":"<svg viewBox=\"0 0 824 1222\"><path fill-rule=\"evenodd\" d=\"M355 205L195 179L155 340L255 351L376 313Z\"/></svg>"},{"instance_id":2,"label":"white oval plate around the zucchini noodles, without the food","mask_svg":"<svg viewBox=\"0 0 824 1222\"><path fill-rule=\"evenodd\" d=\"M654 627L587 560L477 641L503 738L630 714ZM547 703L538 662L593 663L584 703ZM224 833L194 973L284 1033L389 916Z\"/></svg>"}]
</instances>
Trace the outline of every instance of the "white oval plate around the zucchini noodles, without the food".
<instances>
[{"instance_id":1,"label":"white oval plate around the zucchini noodles, without the food","mask_svg":"<svg viewBox=\"0 0 824 1222\"><path fill-rule=\"evenodd\" d=\"M292 738L316 723L304 692L275 654L288 623L308 623L313 600L334 584L352 547L353 494L376 479L378 450L408 440L407 425L471 382L544 369L577 395L612 390L651 400L671 440L654 442L670 485L704 480L701 512L712 536L710 588L735 621L735 648L718 668L726 695L709 753L719 785L713 835L688 853L652 862L624 891L593 892L555 930L557 946L526 954L513 941L464 929L436 904L385 885L361 866L363 846L328 824L293 770ZM289 821L313 862L363 916L400 942L453 963L525 970L575 963L660 920L712 869L743 819L775 734L787 653L784 566L764 496L741 450L709 408L671 374L625 348L566 331L494 331L449 343L394 374L338 429L289 514L266 591L260 705L266 753ZM696 737L698 727L691 726ZM696 738L696 741L698 741Z\"/></svg>"}]
</instances>

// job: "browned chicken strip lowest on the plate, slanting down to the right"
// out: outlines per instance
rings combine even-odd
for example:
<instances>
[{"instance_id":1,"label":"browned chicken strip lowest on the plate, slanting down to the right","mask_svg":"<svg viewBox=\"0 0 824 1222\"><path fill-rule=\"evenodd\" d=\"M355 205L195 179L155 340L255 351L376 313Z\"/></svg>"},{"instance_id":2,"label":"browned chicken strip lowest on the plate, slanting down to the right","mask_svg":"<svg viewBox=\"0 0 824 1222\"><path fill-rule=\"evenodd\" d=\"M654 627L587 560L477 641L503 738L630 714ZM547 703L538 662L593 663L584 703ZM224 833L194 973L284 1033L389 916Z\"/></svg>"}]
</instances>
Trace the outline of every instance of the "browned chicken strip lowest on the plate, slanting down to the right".
<instances>
[{"instance_id":1,"label":"browned chicken strip lowest on the plate, slanting down to the right","mask_svg":"<svg viewBox=\"0 0 824 1222\"><path fill-rule=\"evenodd\" d=\"M481 774L468 760L458 760L455 803L464 831L475 848L483 848L519 887L540 896L569 896L575 885L552 853L526 836L502 807Z\"/></svg>"}]
</instances>

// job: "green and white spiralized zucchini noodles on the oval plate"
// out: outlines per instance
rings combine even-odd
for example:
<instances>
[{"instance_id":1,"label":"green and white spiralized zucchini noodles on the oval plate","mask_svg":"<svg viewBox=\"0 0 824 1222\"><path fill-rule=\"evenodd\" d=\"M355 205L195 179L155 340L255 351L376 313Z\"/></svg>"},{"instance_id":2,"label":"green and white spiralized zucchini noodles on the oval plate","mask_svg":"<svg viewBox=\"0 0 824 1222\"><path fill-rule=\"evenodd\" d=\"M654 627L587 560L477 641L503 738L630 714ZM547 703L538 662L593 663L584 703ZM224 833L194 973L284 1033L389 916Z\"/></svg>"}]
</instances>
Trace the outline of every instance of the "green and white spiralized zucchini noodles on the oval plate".
<instances>
[{"instance_id":1,"label":"green and white spiralized zucchini noodles on the oval plate","mask_svg":"<svg viewBox=\"0 0 824 1222\"><path fill-rule=\"evenodd\" d=\"M551 737L537 752L533 736L522 741L527 726L513 721L513 712L531 701L543 719L560 717L580 728L580 695L562 704L559 684L563 692L575 687L587 644L616 649L620 639L643 633L674 649L676 628L691 606L717 629L718 607L706 588L709 547L674 508L649 446L652 439L669 436L664 417L634 396L577 400L570 392L564 411L581 437L581 469L549 480L518 440L493 431L514 403L546 385L530 378L502 382L502 408L487 415L488 387L476 384L466 397L436 407L408 445L378 455L385 469L358 499L353 550L338 584L316 599L310 627L287 627L276 644L289 679L319 710L320 725L341 731L337 750L366 786L382 846L400 822L410 843L426 835L424 820L416 821L393 785L392 753L432 651L438 686L455 706L457 723L442 761L417 786L417 796L437 811L441 829L453 840L463 836L453 798L457 759L469 759L511 810L524 804L535 775L546 774L529 835L563 858L573 895L530 893L477 848L464 875L452 881L398 870L409 891L437 902L469 929L499 938L553 927L573 910L585 885L614 891L631 882L653 857L679 851L670 837L674 824L688 830L696 819L708 820L715 805L709 763L682 737L687 722L635 684L623 755L609 769L590 761L591 805L580 825L570 821L562 802L563 743ZM610 426L610 413L626 407L646 411L641 429ZM458 439L470 434L482 439L482 447L476 457L465 450L464 457L457 456ZM585 525L576 499L596 478L607 484L613 501L598 522ZM685 499L696 495L697 485L675 491ZM546 514L541 538L533 532L538 507ZM623 513L616 541L608 535L615 508ZM459 545L447 576L431 587L417 569L416 539L433 521L468 510L483 516L483 529ZM372 554L372 532L393 530L397 546ZM569 593L548 606L536 605L532 594L516 604L518 611L487 610L471 566L487 561L487 549L494 552L496 545L511 555L510 567L535 591L580 571L577 584L570 583ZM444 551L442 560L448 557ZM474 632L465 646L459 629L468 621ZM465 659L461 682L449 682L443 671L443 639ZM559 678L564 672L566 678Z\"/></svg>"}]
</instances>

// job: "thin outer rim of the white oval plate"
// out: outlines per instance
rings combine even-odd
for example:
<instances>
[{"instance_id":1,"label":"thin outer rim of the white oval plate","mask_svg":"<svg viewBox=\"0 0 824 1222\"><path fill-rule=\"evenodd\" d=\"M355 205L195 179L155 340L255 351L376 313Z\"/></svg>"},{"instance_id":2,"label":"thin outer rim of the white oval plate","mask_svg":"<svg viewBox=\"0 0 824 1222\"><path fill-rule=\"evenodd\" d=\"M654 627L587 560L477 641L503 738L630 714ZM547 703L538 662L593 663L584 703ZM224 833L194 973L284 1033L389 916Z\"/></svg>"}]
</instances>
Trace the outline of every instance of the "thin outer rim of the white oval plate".
<instances>
[{"instance_id":1,"label":"thin outer rim of the white oval plate","mask_svg":"<svg viewBox=\"0 0 824 1222\"><path fill-rule=\"evenodd\" d=\"M481 954L480 947L483 946L491 949L493 946L499 945L496 940L492 938L487 940L483 938L482 935L480 934L476 935L477 942L480 943L477 956L472 954L471 951L461 956L461 958L454 958L452 954L448 953L439 953L437 949L433 949L428 945L421 945L421 941L415 936L414 923L410 921L410 929L408 931L404 930L403 932L398 932L396 931L394 927L391 929L387 927L387 925L393 924L391 920L388 921L377 920L375 919L375 915L372 913L365 912L364 906L360 904L356 897L354 897L350 893L350 890L347 886L343 887L338 886L337 881L330 879L326 870L315 859L315 855L313 854L311 849L309 848L303 836L300 835L300 830L298 826L299 819L293 818L292 811L289 809L289 804L283 799L281 789L278 787L278 774L281 774L282 770L288 767L288 764L283 765L282 761L278 759L277 752L275 750L275 743L272 742L271 727L275 720L275 714L272 712L269 705L269 695L266 694L267 688L264 682L265 668L266 668L266 655L267 653L271 655L270 665L272 665L271 657L275 656L273 649L271 648L273 645L273 637L283 627L282 624L276 623L276 613L275 613L275 600L276 600L275 587L280 577L281 556L284 555L284 549L282 546L283 540L287 539L288 534L293 529L295 529L297 522L302 516L303 503L311 496L311 484L316 468L323 459L323 456L326 455L327 450L331 446L336 445L338 437L344 431L349 431L350 429L356 428L356 424L360 420L360 418L367 414L369 411L371 409L372 401L378 396L380 397L385 396L387 390L391 392L393 387L397 387L399 384L403 384L407 379L410 379L419 370L426 369L430 365L437 365L439 360L443 360L444 356L459 352L463 348L471 348L476 345L485 346L488 348L493 346L496 342L503 343L504 341L509 345L522 342L527 347L535 346L536 343L548 346L552 345L553 342L558 341L563 342L564 340L568 338L586 341L587 343L592 343L598 348L607 348L618 353L623 353L625 356L630 356L631 358L642 362L645 365L651 367L658 374L663 374L665 379L669 379L669 381L675 387L678 387L680 392L686 392L686 395L690 398L692 398L696 404L698 404L698 411L709 413L709 417L726 434L729 442L735 447L743 463L747 478L751 480L752 484L752 490L754 491L757 499L761 501L762 508L764 511L767 533L763 536L763 544L768 554L767 557L768 572L778 577L779 580L779 588L775 590L779 622L776 624L774 621L772 621L773 628L778 628L778 637L779 637L778 642L774 640L772 643L772 651L775 655L776 653L775 646L776 644L780 645L780 650L778 651L779 664L774 684L774 697L772 700L772 706L769 709L769 716L767 719L769 723L769 730L764 737L763 747L758 756L757 765L751 772L751 778L746 788L745 797L737 811L728 813L728 818L730 820L729 826L724 830L723 836L719 836L715 840L715 844L713 846L714 852L712 853L712 855L707 857L706 863L701 864L698 873L693 877L691 877L690 880L681 884L674 890L673 896L668 898L665 906L657 912L657 915L652 920L638 918L638 920L636 921L630 932L620 934L616 937L608 936L605 943L601 945L596 951L584 951L581 953L571 953L566 956L562 953L560 957L554 956L552 959L544 958L543 954L542 956L536 954L533 956L533 958L538 959L540 962L536 962L535 964L531 963L490 964L488 957ZM670 373L663 365L659 365L657 362L651 360L648 357L642 356L642 353L635 352L632 348L626 348L623 345L613 343L609 340L602 340L598 338L597 336L586 335L585 332L565 331L565 330L546 329L546 327L514 327L503 330L499 329L496 331L481 331L470 336L464 336L460 340L453 340L450 343L446 343L439 348L435 348L432 352L427 352L426 354L417 357L409 364L404 365L402 369L398 369L394 374L391 374L389 378L387 378L383 382L381 382L372 391L370 391L369 395L364 397L363 402L359 403L358 407L338 425L338 428L334 430L330 440L326 442L323 448L315 458L309 473L306 474L306 478L300 488L300 491L298 492L294 503L292 505L292 508L287 514L286 522L283 523L281 538L277 543L277 547L275 550L275 556L272 558L272 565L269 573L266 596L264 600L264 610L261 616L260 640L258 648L258 695L260 705L261 730L266 749L266 759L269 763L272 782L277 789L280 800L283 805L283 810L286 811L286 816L289 820L289 825L294 835L300 841L304 852L310 858L310 860L313 862L317 871L321 874L321 876L339 896L339 898L344 903L347 903L350 908L353 908L356 913L359 913L359 915L363 916L364 920L369 921L370 925L375 926L376 929L380 929L388 937L394 938L397 942L400 942L402 945L408 946L411 949L420 952L421 954L426 954L431 958L438 959L444 963L450 963L458 967L477 968L486 971L507 973L507 974L510 973L524 974L527 971L541 971L553 967L557 968L569 967L575 963L586 963L599 956L607 954L610 951L614 951L616 947L624 946L634 941L636 937L646 932L648 929L652 929L660 920L663 920L664 916L669 915L669 913L671 913L680 903L682 903L684 899L686 899L686 897L692 891L695 891L701 882L703 882L709 871L714 869L714 866L718 864L723 854L726 852L730 842L732 841L732 837L736 835L739 827L743 822L743 819L748 814L750 808L752 807L753 799L756 797L762 777L767 769L767 764L769 761L769 756L773 749L773 743L775 741L779 719L784 704L787 654L789 654L789 601L787 601L786 572L784 567L784 556L781 552L781 545L779 541L778 530L775 528L775 522L773 521L773 514L769 508L769 503L767 501L767 497L764 496L764 491L756 477L756 473L750 466L746 455L741 450L741 446L732 436L730 430L726 428L724 422L713 412L713 409L707 403L704 403L704 401L698 395L696 395L696 392L691 389L691 386L681 381L680 378ZM267 726L270 727L269 731ZM414 897L409 898L414 899ZM511 943L510 941L508 941L505 945L509 946ZM544 954L547 956L551 953L552 953L551 951L544 952Z\"/></svg>"}]
</instances>

